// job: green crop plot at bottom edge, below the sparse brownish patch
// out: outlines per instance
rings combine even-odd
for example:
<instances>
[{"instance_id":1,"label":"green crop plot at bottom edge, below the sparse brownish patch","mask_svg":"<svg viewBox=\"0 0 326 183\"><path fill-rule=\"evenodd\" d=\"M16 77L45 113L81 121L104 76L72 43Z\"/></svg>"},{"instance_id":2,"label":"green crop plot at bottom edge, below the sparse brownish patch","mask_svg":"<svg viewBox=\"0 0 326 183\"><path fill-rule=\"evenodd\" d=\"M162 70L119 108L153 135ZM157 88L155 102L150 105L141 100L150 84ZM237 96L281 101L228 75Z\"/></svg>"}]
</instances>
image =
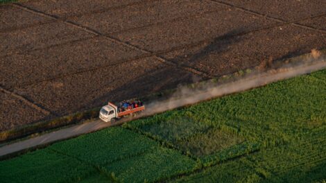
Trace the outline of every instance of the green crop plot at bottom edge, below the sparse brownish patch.
<instances>
[{"instance_id":1,"label":"green crop plot at bottom edge, below the sparse brownish patch","mask_svg":"<svg viewBox=\"0 0 326 183\"><path fill-rule=\"evenodd\" d=\"M123 182L154 182L194 171L196 162L175 150L155 148L148 153L105 166L108 173Z\"/></svg>"}]
</instances>

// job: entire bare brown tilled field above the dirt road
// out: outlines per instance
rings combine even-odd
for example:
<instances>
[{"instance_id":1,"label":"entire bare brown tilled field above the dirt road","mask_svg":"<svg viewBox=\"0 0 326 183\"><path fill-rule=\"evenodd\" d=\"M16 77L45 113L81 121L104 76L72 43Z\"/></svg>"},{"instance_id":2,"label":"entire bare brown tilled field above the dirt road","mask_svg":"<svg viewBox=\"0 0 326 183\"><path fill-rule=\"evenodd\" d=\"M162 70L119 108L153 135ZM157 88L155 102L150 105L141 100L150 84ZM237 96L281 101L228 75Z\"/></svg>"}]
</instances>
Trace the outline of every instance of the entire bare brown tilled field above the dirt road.
<instances>
[{"instance_id":1,"label":"entire bare brown tilled field above the dirt road","mask_svg":"<svg viewBox=\"0 0 326 183\"><path fill-rule=\"evenodd\" d=\"M0 6L1 91L25 101L21 115L1 103L0 130L323 49L325 14L322 0ZM34 105L49 114L30 112Z\"/></svg>"}]
</instances>

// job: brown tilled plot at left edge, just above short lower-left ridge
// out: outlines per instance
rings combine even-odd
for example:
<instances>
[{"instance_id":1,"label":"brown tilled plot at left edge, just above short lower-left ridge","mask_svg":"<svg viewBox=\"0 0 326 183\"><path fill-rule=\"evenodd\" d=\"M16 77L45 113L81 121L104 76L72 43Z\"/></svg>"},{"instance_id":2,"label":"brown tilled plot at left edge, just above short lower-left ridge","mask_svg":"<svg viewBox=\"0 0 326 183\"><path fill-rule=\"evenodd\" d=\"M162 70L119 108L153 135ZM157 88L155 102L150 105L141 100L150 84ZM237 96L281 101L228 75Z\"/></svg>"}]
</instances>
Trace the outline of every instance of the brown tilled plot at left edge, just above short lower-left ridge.
<instances>
[{"instance_id":1,"label":"brown tilled plot at left edge, just above short lower-left ridge","mask_svg":"<svg viewBox=\"0 0 326 183\"><path fill-rule=\"evenodd\" d=\"M0 64L4 69L0 76L6 87L20 87L77 73L99 72L96 69L103 67L114 69L140 55L140 51L110 42L105 37L94 37L3 57ZM129 68L128 64L126 67Z\"/></svg>"}]
</instances>

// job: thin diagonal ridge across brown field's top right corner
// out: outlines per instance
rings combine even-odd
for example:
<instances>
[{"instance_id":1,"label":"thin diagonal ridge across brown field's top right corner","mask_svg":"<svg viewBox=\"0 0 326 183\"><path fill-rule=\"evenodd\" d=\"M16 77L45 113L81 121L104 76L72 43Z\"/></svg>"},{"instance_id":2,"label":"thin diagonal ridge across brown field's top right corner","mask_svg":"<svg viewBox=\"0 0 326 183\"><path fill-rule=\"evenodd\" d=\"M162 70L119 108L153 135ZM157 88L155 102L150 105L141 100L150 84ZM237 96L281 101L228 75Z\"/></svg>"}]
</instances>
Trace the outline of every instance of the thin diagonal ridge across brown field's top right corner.
<instances>
[{"instance_id":1,"label":"thin diagonal ridge across brown field's top right corner","mask_svg":"<svg viewBox=\"0 0 326 183\"><path fill-rule=\"evenodd\" d=\"M280 19L280 18L277 18L277 17L271 17L269 15L264 15L264 14L261 14L260 12L256 12L254 10L249 10L247 8L242 8L240 6L235 6L235 5L232 5L231 3L225 3L223 1L217 1L217 0L205 0L205 1L210 1L212 3L216 3L216 4L219 4L219 5L222 5L222 6L228 6L228 7L232 7L236 10L239 10L241 12L246 12L248 14L251 14L251 15L256 15L258 17L264 17L266 19L271 19L273 21L277 21L277 22L280 22L280 23L286 23L286 24L290 24L292 26L297 26L297 27L300 27L300 28L305 28L305 29L309 29L309 30L315 30L319 33L326 33L326 30L323 30L323 29L320 29L320 28L314 28L314 27L311 27L311 26L306 26L306 25L303 25L303 24L298 24L296 22L298 22L298 20L295 20L295 21L286 21L284 19ZM325 12L321 15L318 15L317 17L321 17L325 15ZM313 17L310 17L310 19L313 18Z\"/></svg>"}]
</instances>

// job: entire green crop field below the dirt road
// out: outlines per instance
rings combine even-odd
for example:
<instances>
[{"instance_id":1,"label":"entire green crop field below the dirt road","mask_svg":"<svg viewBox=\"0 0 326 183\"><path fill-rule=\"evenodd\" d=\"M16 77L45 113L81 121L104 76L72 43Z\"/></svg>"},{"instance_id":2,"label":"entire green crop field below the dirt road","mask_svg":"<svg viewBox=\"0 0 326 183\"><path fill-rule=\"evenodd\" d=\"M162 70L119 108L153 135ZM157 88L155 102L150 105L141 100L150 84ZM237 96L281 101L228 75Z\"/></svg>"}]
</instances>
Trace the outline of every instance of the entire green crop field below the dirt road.
<instances>
[{"instance_id":1,"label":"entire green crop field below the dirt road","mask_svg":"<svg viewBox=\"0 0 326 183\"><path fill-rule=\"evenodd\" d=\"M1 182L325 182L326 70L0 162Z\"/></svg>"}]
</instances>

